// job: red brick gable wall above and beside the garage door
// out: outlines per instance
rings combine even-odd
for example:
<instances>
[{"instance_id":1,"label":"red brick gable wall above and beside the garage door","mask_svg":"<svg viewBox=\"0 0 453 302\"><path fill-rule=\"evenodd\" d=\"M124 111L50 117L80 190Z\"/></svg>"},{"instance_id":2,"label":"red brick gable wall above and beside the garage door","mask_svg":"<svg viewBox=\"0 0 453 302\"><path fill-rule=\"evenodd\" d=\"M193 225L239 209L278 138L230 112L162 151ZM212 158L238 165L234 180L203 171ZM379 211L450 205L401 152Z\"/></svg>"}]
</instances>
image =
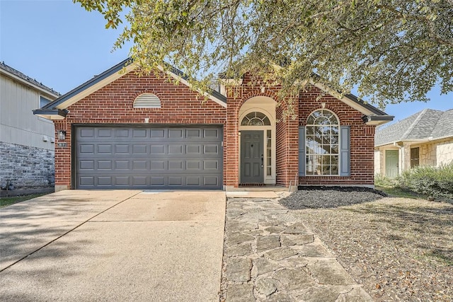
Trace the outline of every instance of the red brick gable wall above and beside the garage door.
<instances>
[{"instance_id":1,"label":"red brick gable wall above and beside the garage door","mask_svg":"<svg viewBox=\"0 0 453 302\"><path fill-rule=\"evenodd\" d=\"M132 108L134 99L142 93L157 95L161 108ZM155 76L139 77L134 73L122 76L67 109L66 119L55 122L56 131L65 129L67 132L67 147L55 146L55 185L68 188L73 186L71 124L144 124L144 118L149 118L150 124L224 125L226 118L226 108L212 100L204 100L183 84L175 86ZM225 137L224 133L224 140ZM226 152L224 163L228 165Z\"/></svg>"}]
</instances>

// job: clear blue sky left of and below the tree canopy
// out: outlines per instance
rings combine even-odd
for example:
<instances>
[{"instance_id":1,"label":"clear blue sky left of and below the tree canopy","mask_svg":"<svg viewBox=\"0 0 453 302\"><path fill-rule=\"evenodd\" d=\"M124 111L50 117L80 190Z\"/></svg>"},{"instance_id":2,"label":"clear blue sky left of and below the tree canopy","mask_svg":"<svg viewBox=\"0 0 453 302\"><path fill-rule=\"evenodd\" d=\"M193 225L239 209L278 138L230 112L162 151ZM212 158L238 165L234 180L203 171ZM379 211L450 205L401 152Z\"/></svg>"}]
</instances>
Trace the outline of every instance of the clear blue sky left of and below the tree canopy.
<instances>
[{"instance_id":1,"label":"clear blue sky left of and below the tree canopy","mask_svg":"<svg viewBox=\"0 0 453 302\"><path fill-rule=\"evenodd\" d=\"M0 0L0 61L62 94L129 57L132 44L113 51L121 32L71 0ZM425 108L453 109L453 92L436 87L428 97L384 111L397 122Z\"/></svg>"}]
</instances>

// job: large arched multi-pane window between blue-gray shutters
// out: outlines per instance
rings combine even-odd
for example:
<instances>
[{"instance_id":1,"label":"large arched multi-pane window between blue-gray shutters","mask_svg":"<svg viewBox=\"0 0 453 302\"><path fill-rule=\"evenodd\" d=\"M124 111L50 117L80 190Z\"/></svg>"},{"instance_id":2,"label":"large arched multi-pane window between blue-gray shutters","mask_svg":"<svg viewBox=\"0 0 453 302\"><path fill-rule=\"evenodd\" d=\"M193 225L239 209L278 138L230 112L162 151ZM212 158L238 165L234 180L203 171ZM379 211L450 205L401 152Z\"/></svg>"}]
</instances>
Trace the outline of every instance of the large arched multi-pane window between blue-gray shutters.
<instances>
[{"instance_id":1,"label":"large arched multi-pane window between blue-gray shutters","mask_svg":"<svg viewBox=\"0 0 453 302\"><path fill-rule=\"evenodd\" d=\"M338 117L321 109L306 120L306 175L338 175Z\"/></svg>"}]
</instances>

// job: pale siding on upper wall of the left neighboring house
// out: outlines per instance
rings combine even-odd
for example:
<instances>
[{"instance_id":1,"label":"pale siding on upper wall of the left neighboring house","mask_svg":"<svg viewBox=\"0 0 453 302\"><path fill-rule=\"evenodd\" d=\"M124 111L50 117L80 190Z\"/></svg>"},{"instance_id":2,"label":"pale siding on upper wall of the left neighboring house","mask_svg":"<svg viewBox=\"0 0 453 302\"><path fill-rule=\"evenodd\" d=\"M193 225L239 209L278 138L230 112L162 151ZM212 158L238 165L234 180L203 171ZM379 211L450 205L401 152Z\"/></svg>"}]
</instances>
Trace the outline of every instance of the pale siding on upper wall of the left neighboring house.
<instances>
[{"instance_id":1,"label":"pale siding on upper wall of the left neighboring house","mask_svg":"<svg viewBox=\"0 0 453 302\"><path fill-rule=\"evenodd\" d=\"M49 95L42 95L50 100ZM33 115L39 108L40 92L13 81L4 74L0 77L0 141L37 148L54 149L50 138L55 137L54 125ZM47 141L43 137L47 137Z\"/></svg>"}]
</instances>

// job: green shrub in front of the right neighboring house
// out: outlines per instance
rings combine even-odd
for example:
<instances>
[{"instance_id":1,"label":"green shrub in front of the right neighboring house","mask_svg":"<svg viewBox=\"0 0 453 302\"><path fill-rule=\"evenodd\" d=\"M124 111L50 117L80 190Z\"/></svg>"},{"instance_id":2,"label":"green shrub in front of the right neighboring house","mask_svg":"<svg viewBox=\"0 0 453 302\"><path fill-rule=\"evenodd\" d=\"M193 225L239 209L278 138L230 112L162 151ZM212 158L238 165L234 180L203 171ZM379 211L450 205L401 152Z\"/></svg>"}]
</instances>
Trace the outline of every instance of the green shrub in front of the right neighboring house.
<instances>
[{"instance_id":1,"label":"green shrub in front of the right neighboring house","mask_svg":"<svg viewBox=\"0 0 453 302\"><path fill-rule=\"evenodd\" d=\"M453 163L440 167L418 166L406 170L398 182L403 189L430 197L453 198Z\"/></svg>"}]
</instances>

